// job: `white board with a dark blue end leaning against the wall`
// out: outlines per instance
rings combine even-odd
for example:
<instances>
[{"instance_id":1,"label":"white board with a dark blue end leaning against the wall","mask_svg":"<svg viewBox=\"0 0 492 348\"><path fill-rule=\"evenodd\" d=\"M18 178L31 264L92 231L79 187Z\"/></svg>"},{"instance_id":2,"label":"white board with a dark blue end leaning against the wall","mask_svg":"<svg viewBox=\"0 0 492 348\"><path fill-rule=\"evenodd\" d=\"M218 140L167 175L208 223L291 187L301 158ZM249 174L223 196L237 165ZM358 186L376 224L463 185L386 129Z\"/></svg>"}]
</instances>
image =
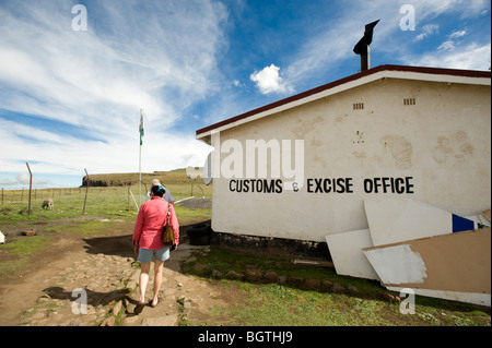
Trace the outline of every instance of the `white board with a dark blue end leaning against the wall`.
<instances>
[{"instance_id":1,"label":"white board with a dark blue end leaning against the wall","mask_svg":"<svg viewBox=\"0 0 492 348\"><path fill-rule=\"evenodd\" d=\"M374 247L478 228L476 221L414 200L368 199L364 207Z\"/></svg>"}]
</instances>

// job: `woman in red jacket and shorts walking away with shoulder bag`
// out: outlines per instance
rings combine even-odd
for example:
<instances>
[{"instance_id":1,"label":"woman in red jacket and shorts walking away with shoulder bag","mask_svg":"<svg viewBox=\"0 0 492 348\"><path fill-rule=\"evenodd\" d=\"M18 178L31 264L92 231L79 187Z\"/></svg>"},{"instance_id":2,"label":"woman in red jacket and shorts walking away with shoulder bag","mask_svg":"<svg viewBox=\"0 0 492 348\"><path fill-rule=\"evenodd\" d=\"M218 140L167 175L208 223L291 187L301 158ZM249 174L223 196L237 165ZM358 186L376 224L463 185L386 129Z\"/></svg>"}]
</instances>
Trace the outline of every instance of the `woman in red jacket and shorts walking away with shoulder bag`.
<instances>
[{"instance_id":1,"label":"woman in red jacket and shorts walking away with shoulder bag","mask_svg":"<svg viewBox=\"0 0 492 348\"><path fill-rule=\"evenodd\" d=\"M171 211L169 224L175 236L175 245L179 243L179 224L172 204L163 200L165 189L161 185L153 187L151 200L140 207L133 230L133 250L137 261L141 263L140 272L140 299L134 313L139 314L145 305L145 289L149 283L149 273L152 260L154 261L154 284L151 307L157 305L159 290L162 283L162 269L164 261L169 259L169 247L161 241L161 232L166 224L167 212ZM175 248L175 245L171 248Z\"/></svg>"}]
</instances>

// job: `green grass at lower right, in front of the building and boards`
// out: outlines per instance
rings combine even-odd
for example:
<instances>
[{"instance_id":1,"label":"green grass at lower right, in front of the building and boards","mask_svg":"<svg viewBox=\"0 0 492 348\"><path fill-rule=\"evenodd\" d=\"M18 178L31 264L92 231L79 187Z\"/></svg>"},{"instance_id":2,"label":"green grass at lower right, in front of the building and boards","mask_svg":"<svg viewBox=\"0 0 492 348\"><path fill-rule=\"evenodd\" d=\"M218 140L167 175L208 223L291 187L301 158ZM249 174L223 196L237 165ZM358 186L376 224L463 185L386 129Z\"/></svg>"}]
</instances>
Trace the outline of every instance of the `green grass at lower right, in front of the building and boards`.
<instances>
[{"instance_id":1,"label":"green grass at lower right, in front of the building and boards","mask_svg":"<svg viewBox=\"0 0 492 348\"><path fill-rule=\"evenodd\" d=\"M415 314L401 314L400 303L384 300L387 291L377 281L344 277L333 268L294 265L281 257L241 254L212 247L210 252L196 252L196 260L186 264L188 273L204 277L223 287L225 293L239 293L234 305L215 307L208 317L187 325L239 326L490 326L490 309L468 303L415 297ZM197 272L194 265L207 268ZM245 273L247 265L278 275L316 278L355 286L358 292L332 293L280 285L212 278L212 269ZM403 300L403 299L401 299Z\"/></svg>"}]
</instances>

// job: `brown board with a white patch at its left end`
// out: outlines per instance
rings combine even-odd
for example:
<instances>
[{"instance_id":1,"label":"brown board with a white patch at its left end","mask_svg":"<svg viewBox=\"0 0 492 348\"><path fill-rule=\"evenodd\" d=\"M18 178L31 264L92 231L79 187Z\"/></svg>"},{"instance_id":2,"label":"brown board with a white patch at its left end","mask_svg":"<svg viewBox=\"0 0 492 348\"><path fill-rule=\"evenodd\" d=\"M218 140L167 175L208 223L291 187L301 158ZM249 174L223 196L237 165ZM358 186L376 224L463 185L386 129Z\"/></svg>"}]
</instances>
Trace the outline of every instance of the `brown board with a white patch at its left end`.
<instances>
[{"instance_id":1,"label":"brown board with a white patch at its left end","mask_svg":"<svg viewBox=\"0 0 492 348\"><path fill-rule=\"evenodd\" d=\"M491 228L363 249L389 289L490 305ZM431 295L432 293L432 295ZM478 296L480 295L480 296Z\"/></svg>"}]
</instances>

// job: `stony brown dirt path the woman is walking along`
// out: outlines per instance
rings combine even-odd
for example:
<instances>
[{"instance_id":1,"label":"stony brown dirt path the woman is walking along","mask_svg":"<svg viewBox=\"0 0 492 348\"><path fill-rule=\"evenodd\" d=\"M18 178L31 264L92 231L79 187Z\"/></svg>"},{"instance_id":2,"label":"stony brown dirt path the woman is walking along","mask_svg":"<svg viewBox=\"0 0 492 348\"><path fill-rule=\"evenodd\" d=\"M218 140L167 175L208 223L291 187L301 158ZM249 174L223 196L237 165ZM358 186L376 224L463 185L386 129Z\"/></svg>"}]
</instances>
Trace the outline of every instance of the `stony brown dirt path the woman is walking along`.
<instances>
[{"instance_id":1,"label":"stony brown dirt path the woman is walking along","mask_svg":"<svg viewBox=\"0 0 492 348\"><path fill-rule=\"evenodd\" d=\"M190 245L183 238L164 265L161 303L134 315L140 269L134 266L126 225L131 224L96 237L52 236L50 248L36 256L27 272L0 285L0 326L178 325L192 313L227 305L220 287L180 272L180 263L196 248L208 248ZM151 268L148 299L152 280Z\"/></svg>"}]
</instances>

